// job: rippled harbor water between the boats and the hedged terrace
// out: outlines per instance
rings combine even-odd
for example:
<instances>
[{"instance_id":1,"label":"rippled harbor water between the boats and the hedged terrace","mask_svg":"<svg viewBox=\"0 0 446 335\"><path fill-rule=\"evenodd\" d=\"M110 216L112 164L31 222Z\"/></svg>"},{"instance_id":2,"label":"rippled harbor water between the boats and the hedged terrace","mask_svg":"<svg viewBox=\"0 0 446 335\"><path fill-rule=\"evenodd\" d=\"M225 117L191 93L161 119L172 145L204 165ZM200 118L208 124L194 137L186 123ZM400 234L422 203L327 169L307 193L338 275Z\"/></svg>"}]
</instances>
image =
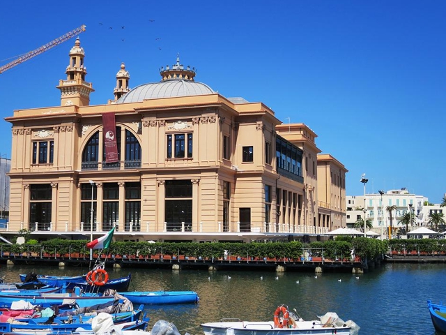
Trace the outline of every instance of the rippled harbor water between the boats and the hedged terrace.
<instances>
[{"instance_id":1,"label":"rippled harbor water between the boats and the hedged terrace","mask_svg":"<svg viewBox=\"0 0 446 335\"><path fill-rule=\"evenodd\" d=\"M75 276L82 267L6 266L6 282L19 274ZM336 312L353 320L361 335L433 335L426 301L446 301L446 267L440 264L385 264L366 274L264 271L171 271L166 269L107 269L110 278L132 273L129 290L193 290L198 304L146 306L151 318L174 323L181 334L202 334L199 325L222 318L272 320L277 306L286 304L301 318Z\"/></svg>"}]
</instances>

